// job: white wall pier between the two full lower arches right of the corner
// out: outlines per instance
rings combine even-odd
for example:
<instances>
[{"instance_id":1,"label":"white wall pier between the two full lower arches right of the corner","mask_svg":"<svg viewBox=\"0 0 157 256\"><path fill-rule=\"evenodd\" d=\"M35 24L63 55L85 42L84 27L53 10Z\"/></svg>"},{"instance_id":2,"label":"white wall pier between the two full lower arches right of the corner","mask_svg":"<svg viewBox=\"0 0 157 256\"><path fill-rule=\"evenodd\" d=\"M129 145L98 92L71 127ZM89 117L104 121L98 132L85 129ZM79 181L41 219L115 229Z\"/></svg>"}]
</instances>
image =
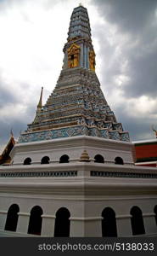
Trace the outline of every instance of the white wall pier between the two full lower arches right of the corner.
<instances>
[{"instance_id":1,"label":"white wall pier between the two full lower arches right of the corner","mask_svg":"<svg viewBox=\"0 0 157 256\"><path fill-rule=\"evenodd\" d=\"M116 215L117 236L132 236L132 215Z\"/></svg>"}]
</instances>

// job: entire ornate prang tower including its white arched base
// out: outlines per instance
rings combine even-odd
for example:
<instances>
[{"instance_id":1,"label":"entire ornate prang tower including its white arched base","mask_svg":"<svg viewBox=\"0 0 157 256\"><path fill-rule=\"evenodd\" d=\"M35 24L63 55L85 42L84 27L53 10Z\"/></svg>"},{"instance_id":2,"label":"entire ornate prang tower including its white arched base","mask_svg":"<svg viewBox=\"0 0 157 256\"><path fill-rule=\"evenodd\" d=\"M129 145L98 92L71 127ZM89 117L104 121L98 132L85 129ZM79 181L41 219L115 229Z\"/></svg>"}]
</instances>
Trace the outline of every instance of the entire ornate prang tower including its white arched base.
<instances>
[{"instance_id":1,"label":"entire ornate prang tower including its white arched base","mask_svg":"<svg viewBox=\"0 0 157 256\"><path fill-rule=\"evenodd\" d=\"M0 166L0 236L156 233L157 170L134 166L134 146L104 98L95 63L87 9L79 6L56 87L43 107L41 92L11 165Z\"/></svg>"}]
</instances>

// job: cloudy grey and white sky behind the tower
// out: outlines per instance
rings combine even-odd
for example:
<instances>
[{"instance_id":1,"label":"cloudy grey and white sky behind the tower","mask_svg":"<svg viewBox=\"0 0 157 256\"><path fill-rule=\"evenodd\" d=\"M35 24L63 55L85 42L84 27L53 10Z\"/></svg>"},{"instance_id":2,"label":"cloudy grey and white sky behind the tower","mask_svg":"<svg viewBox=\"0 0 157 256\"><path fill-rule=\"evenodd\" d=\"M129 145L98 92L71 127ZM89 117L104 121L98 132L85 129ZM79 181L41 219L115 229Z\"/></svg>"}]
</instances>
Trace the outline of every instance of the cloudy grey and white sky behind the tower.
<instances>
[{"instance_id":1,"label":"cloudy grey and white sky behind the tower","mask_svg":"<svg viewBox=\"0 0 157 256\"><path fill-rule=\"evenodd\" d=\"M0 151L35 117L63 64L72 10L87 7L96 73L132 141L157 130L156 0L0 0Z\"/></svg>"}]
</instances>

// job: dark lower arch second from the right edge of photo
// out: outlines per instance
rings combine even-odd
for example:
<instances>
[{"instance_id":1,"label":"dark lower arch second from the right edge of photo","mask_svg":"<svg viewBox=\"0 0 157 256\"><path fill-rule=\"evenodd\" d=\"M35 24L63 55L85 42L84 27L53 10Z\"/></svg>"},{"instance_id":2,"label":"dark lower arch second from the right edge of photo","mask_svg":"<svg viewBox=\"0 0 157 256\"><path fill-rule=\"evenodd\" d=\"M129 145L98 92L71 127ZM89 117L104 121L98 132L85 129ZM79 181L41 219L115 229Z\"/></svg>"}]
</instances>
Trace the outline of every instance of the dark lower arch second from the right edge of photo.
<instances>
[{"instance_id":1,"label":"dark lower arch second from the right edge of photo","mask_svg":"<svg viewBox=\"0 0 157 256\"><path fill-rule=\"evenodd\" d=\"M143 224L143 213L139 207L132 207L131 209L131 224L132 224L132 235L145 234Z\"/></svg>"}]
</instances>

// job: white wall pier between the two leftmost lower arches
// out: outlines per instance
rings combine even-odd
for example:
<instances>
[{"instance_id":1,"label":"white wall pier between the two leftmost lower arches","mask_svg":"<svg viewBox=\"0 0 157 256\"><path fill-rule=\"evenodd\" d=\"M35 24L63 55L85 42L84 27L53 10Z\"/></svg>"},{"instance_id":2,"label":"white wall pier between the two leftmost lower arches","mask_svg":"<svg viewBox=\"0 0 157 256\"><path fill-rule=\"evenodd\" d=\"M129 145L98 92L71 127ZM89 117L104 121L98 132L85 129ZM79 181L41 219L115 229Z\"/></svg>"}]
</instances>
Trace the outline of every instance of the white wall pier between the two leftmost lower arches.
<instances>
[{"instance_id":1,"label":"white wall pier between the two leftmost lower arches","mask_svg":"<svg viewBox=\"0 0 157 256\"><path fill-rule=\"evenodd\" d=\"M27 234L31 214L28 212L19 212L18 215L19 218L16 231L18 233Z\"/></svg>"}]
</instances>

